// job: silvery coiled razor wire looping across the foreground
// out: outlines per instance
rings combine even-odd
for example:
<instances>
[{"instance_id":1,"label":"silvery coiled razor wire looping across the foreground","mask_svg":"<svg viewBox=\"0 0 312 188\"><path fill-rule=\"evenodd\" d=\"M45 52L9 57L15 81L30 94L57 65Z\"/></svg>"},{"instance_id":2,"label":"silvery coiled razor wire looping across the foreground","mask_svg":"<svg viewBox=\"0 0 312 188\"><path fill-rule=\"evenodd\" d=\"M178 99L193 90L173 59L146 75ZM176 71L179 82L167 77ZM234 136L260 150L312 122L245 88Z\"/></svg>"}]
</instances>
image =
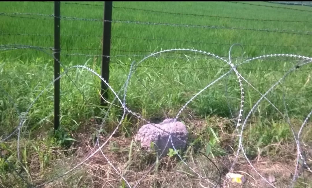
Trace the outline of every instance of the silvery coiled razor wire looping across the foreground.
<instances>
[{"instance_id":1,"label":"silvery coiled razor wire looping across the foreground","mask_svg":"<svg viewBox=\"0 0 312 188\"><path fill-rule=\"evenodd\" d=\"M234 47L235 45L238 45L238 44L234 44L230 47L230 50L229 50L229 61L227 61L226 59L222 58L222 57L219 57L213 53L210 53L210 52L204 52L204 51L201 51L201 50L195 50L195 49L168 49L168 50L163 50L163 51L159 51L159 52L155 52L155 53L152 53L146 57L144 57L141 61L139 61L138 63L135 63L133 62L131 64L131 67L130 67L130 71L129 71L129 74L128 74L128 77L127 77L127 80L124 82L124 85L123 87L116 93L114 91L114 89L98 74L96 73L94 70L86 67L86 66L83 66L83 65L76 65L76 66L71 66L71 67L64 67L61 62L59 62L62 67L64 67L64 72L59 76L57 77L56 79L54 79L52 82L50 82L50 84L48 84L48 86L41 91L41 93L35 98L35 100L30 104L30 106L27 108L27 111L23 114L23 116L21 115L20 112L18 112L17 110L17 113L19 114L19 124L17 126L17 128L9 135L7 136L6 138L2 139L0 141L0 143L8 140L13 134L15 134L17 131L18 131L18 138L20 136L20 129L22 128L24 122L27 120L26 116L27 116L27 113L29 112L29 110L32 108L32 106L34 105L34 103L38 100L38 98L42 95L42 93L44 91L46 91L48 89L48 87L50 87L56 80L59 80L61 77L63 77L64 75L67 75L67 72L72 70L72 69L85 69L89 72L91 72L92 74L94 74L95 76L99 77L106 85L107 87L109 87L109 89L111 90L111 92L114 93L115 95L115 98L113 100L112 103L110 103L110 106L108 108L108 110L106 111L106 114L105 114L105 118L102 120L102 123L100 125L100 127L102 127L105 123L105 119L107 118L108 116L108 113L114 103L115 100L118 100L119 103L121 104L121 107L123 108L123 115L118 123L118 125L116 126L115 130L112 132L112 134L109 136L108 139L105 140L105 142L103 144L100 144L100 137L99 137L99 133L97 135L97 140L96 140L96 145L97 146L97 149L90 153L84 160L80 161L79 164L77 164L75 167L73 167L71 170L65 172L64 174L60 175L60 176L57 176L49 181L46 181L45 183L42 183L40 185L37 185L37 186L30 186L31 184L29 184L28 182L26 182L28 184L29 187L35 187L35 188L39 188L39 187L45 187L47 186L49 183L63 177L63 176L66 176L67 174L69 174L70 172L74 171L75 169L77 169L78 167L80 167L82 164L84 164L86 161L88 161L92 156L94 156L98 151L101 151L101 149L107 144L107 142L112 138L112 136L115 134L115 132L118 130L119 126L121 125L122 121L124 120L124 117L125 117L125 114L126 113L130 113L132 114L133 116L135 116L136 118L138 119L141 119L147 123L150 123L152 124L151 122L145 120L144 118L142 118L139 114L131 111L127 106L126 106L126 92L127 92L127 87L128 87L128 84L129 84L129 81L130 81L130 78L132 76L132 73L135 71L135 68L133 69L133 67L137 67L140 63L142 63L143 61L145 61L146 59L148 59L149 57L153 57L157 54L160 54L160 53L164 53L164 52L172 52L172 51L190 51L190 52L198 52L198 53L202 53L202 54L205 54L207 56L212 56L212 57L215 57L223 62L226 62L227 64L229 64L231 66L231 70L226 72L225 74L223 74L222 76L220 76L219 78L217 78L216 80L212 81L211 83L209 83L206 87L204 87L201 91L199 91L197 94L195 94L181 109L180 111L178 112L177 116L173 119L173 122L171 121L170 123L174 123L177 121L178 117L181 115L182 111L186 108L186 106L192 102L198 95L200 95L203 91L205 91L208 87L211 87L213 84L215 84L216 82L218 82L219 80L221 80L223 77L225 76L228 76L232 71L235 72L236 74L236 77L238 78L238 82L239 82L239 87L240 87L240 90L241 90L241 102L240 102L240 110L239 110L239 115L237 117L237 123L236 123L236 130L238 129L238 127L241 126L241 131L239 132L239 146L238 146L238 150L236 152L236 158L235 160L233 161L232 163L232 166L231 166L231 169L230 169L230 172L233 171L233 166L238 158L238 155L239 155L239 151L242 151L243 155L245 156L246 158L246 161L249 163L249 165L252 167L252 169L254 171L256 171L256 173L264 180L266 181L269 185L271 185L272 187L275 187L271 182L267 181L266 178L264 178L263 176L261 176L261 174L259 172L257 172L256 168L251 164L251 161L248 159L248 157L246 156L246 153L245 153L245 150L244 150L244 147L242 145L242 133L244 131L244 127L246 125L246 122L247 120L249 119L251 113L255 110L255 108L257 107L257 105L263 100L263 99L266 99L266 101L268 101L283 117L284 119L286 119L286 117L276 108L276 106L274 106L272 104L271 101L269 101L267 98L266 98L266 95L271 92L278 84L280 84L291 72L293 72L296 68L298 67L302 67L304 65L307 65L309 63L312 62L312 58L311 57L305 57L305 56L300 56L300 55L293 55L293 54L270 54L270 55L263 55L263 56L258 56L258 57L254 57L254 58L251 58L251 59L247 59L246 61L243 61L241 62L240 64L237 64L237 65L234 65L232 62L231 62L231 50L232 50L232 47ZM2 49L1 49L2 48ZM25 45L21 45L21 46L18 46L18 45L14 45L12 47L12 45L2 45L0 46L0 50L7 50L7 49L22 49L22 48L25 48ZM37 49L35 47L28 47L28 48L34 48L34 49ZM37 50L40 50L44 53L47 53L45 51L43 51L42 49L37 49ZM52 56L52 55L50 55ZM52 56L53 57L53 56ZM288 72L285 73L285 75L280 78L265 94L261 94L261 92L259 92L258 90L256 90L255 87L253 87L237 70L236 70L236 67L242 65L242 64L245 64L245 63L249 63L249 62L252 62L253 60L256 60L256 59L264 59L264 58L269 58L269 57L294 57L294 58L298 58L298 59L301 59L301 60L306 60L305 62L302 62L302 63L299 63L297 64L296 66L294 66L293 68L289 69ZM134 70L134 71L133 71ZM68 75L67 75L68 76ZM261 94L261 98L255 103L255 105L251 108L251 110L249 111L249 113L247 114L246 118L245 118L245 121L241 124L240 121L242 121L241 117L242 117L242 111L243 111L243 106L244 106L244 90L243 90L243 86L242 86L242 80L244 80L248 85L250 85L253 89L255 89L258 93ZM78 87L77 87L78 88ZM123 95L123 100L120 99L119 97L119 93L124 90L124 95ZM81 93L82 94L82 93ZM15 106L15 105L14 105ZM287 110L286 110L287 111ZM301 152L301 148L300 148L300 134L305 126L305 124L307 123L308 119L310 118L310 116L312 115L312 111L310 111L310 113L308 114L308 116L305 118L304 122L302 123L302 125L300 126L300 130L298 132L298 134L295 134L293 128L291 127L291 130L293 132L293 136L294 136L294 139L295 139L295 142L296 142L296 146L297 146L297 161L296 161L296 167L295 167L295 173L294 173L294 177L293 177L293 180L291 182L291 185L295 182L295 180L299 177L299 172L298 172L298 166L299 166L299 158L303 161L303 166L310 172L312 173L311 169L307 166L306 164L306 161L304 159L304 157L302 156L302 152ZM287 115L288 116L288 115ZM286 119L287 121L287 119ZM152 124L153 125L153 124ZM155 125L153 125L155 126ZM157 126L155 126L157 127ZM169 126L170 127L170 126ZM159 127L157 127L158 129L160 129ZM170 127L171 128L171 127ZM162 130L164 131L164 130ZM169 134L169 138L168 138L168 141L167 141L167 144L169 142L169 140L171 141L171 144L173 146L173 149L174 151L177 151L174 147L174 144L173 144L173 141L172 141L172 134L171 134L171 130L170 132L167 132L165 131L166 133ZM177 138L179 139L179 138ZM180 141L182 141L181 139L179 139ZM183 141L185 142L185 141ZM165 149L166 149L167 145L165 146ZM194 148L196 149L196 148ZM17 148L18 150L18 148ZM197 150L197 149L196 149ZM164 150L162 151L162 153L164 152ZM199 151L200 152L200 151ZM101 151L102 155L105 157L105 159L108 161L109 165L113 167L113 169L115 170L115 172L121 176L121 178L126 182L126 184L131 187L130 183L126 180L126 178L124 176L121 175L121 173L119 173L119 171L112 165L112 163L109 161L109 159L104 155L104 153ZM178 152L177 152L178 153ZM203 154L202 152L200 152L201 154ZM203 154L205 157L207 157L205 154ZM183 158L178 154L178 157L183 161L183 163L188 166L188 164L186 163L186 161L183 160ZM209 159L207 157L207 159ZM213 161L211 159L209 159L212 163ZM10 164L7 160L6 162L8 164ZM214 164L214 163L213 163ZM217 167L217 165L214 164L214 166L216 166L218 172L219 172L219 179L217 181L215 181L216 183L213 184L212 182L209 181L209 179L211 178L208 178L208 177L202 177L199 173L197 173L195 170L193 170L190 166L188 166L188 168L193 171L198 177L201 178L201 180L205 180L207 181L208 183L214 185L214 187L217 187L218 185L220 185L220 182L221 182L221 173ZM151 170L151 169L150 169ZM22 177L21 177L22 178ZM143 178L143 177L142 177ZM141 180L142 180L141 178ZM23 178L22 178L23 179ZM25 181L25 180L24 180ZM134 187L136 187L137 185L139 185L139 181L136 182L136 185ZM200 183L200 182L199 182ZM202 185L201 185L202 186ZM202 186L204 187L204 186Z\"/></svg>"}]
</instances>

